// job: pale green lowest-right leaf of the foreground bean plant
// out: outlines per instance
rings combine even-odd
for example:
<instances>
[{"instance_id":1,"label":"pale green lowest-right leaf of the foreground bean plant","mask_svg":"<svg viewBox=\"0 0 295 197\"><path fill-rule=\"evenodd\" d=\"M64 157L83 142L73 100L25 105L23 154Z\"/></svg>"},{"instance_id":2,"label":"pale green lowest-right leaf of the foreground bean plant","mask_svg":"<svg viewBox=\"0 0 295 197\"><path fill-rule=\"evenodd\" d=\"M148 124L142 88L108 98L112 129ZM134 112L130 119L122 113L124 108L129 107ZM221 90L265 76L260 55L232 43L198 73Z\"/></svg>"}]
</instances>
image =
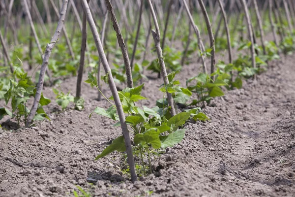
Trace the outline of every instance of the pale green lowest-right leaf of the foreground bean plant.
<instances>
[{"instance_id":1,"label":"pale green lowest-right leaf of the foreground bean plant","mask_svg":"<svg viewBox=\"0 0 295 197\"><path fill-rule=\"evenodd\" d=\"M185 129L177 130L167 136L160 136L161 139L161 147L163 149L168 146L173 147L175 144L182 141L184 137Z\"/></svg>"}]
</instances>

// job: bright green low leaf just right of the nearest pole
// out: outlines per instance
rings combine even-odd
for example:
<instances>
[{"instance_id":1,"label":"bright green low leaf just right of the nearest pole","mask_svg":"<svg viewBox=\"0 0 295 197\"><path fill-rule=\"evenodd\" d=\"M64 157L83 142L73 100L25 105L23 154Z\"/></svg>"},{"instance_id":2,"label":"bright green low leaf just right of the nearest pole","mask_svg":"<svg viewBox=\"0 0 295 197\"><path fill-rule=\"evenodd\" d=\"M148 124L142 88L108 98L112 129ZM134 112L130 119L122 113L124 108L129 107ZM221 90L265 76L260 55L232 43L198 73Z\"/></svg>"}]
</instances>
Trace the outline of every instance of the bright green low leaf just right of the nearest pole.
<instances>
[{"instance_id":1,"label":"bright green low leaf just right of the nearest pole","mask_svg":"<svg viewBox=\"0 0 295 197\"><path fill-rule=\"evenodd\" d=\"M148 131L144 133L138 133L134 136L134 144L151 144L153 148L160 148L161 141L159 138L159 130L158 129L148 129Z\"/></svg>"}]
</instances>

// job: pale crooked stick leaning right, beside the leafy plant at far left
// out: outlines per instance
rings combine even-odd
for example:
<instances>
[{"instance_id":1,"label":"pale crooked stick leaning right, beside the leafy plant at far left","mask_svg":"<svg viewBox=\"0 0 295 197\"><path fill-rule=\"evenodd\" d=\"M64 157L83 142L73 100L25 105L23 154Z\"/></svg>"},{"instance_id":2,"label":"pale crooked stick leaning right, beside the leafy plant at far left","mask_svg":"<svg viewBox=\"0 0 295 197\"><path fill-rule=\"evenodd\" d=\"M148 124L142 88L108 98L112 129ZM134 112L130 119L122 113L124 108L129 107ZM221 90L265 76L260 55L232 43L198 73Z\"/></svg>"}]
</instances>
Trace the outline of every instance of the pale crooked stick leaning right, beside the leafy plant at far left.
<instances>
[{"instance_id":1,"label":"pale crooked stick leaning right, beside the leafy plant at far left","mask_svg":"<svg viewBox=\"0 0 295 197\"><path fill-rule=\"evenodd\" d=\"M31 124L31 122L36 114L36 111L38 109L39 101L40 101L41 94L42 94L43 84L44 84L45 72L46 72L46 69L48 66L48 62L49 62L49 58L50 58L52 49L55 46L55 44L58 42L58 39L59 39L59 34L61 32L63 22L64 22L65 13L66 13L67 3L68 3L68 0L63 0L57 30L54 33L53 37L51 38L50 43L48 43L46 46L46 50L45 50L45 54L44 54L44 58L43 58L43 63L42 63L41 70L40 70L37 90L36 90L36 94L35 94L35 99L33 102L33 106L29 112L29 116L28 116L28 119L26 122L26 127L29 127L29 125ZM28 4L27 4L27 6L28 6Z\"/></svg>"}]
</instances>

